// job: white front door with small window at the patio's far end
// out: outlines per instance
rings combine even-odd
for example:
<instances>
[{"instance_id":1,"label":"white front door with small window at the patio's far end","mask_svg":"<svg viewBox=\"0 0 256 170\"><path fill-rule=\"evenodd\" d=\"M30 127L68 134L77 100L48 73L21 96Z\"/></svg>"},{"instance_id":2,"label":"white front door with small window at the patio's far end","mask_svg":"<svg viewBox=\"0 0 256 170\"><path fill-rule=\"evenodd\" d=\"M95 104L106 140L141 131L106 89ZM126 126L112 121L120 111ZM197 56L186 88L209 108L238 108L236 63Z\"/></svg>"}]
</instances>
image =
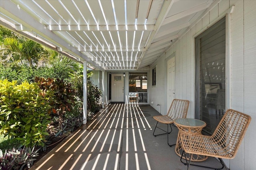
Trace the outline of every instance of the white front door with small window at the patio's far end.
<instances>
[{"instance_id":1,"label":"white front door with small window at the patio's far end","mask_svg":"<svg viewBox=\"0 0 256 170\"><path fill-rule=\"evenodd\" d=\"M124 78L123 74L112 74L111 78L112 102L124 102Z\"/></svg>"}]
</instances>

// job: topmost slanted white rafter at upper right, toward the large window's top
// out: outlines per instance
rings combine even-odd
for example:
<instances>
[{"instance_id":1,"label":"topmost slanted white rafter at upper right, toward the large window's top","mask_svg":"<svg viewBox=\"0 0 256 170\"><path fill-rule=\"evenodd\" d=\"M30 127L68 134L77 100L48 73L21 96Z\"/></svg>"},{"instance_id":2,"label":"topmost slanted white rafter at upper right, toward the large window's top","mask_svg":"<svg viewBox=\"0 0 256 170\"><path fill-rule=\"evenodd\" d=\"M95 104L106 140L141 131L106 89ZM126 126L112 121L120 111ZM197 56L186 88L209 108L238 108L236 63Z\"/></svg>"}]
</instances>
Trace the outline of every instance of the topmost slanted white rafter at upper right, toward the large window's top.
<instances>
[{"instance_id":1,"label":"topmost slanted white rafter at upper right, toward the large window's top","mask_svg":"<svg viewBox=\"0 0 256 170\"><path fill-rule=\"evenodd\" d=\"M204 4L201 4L201 5L195 6L195 7L193 7L193 8L190 8L190 9L188 9L188 10L186 10L186 11L180 12L180 13L178 13L178 14L176 14L176 15L170 16L170 17L168 17L168 18L166 18L166 19L164 20L164 22L163 22L162 25L166 25L166 24L168 24L168 23L171 23L171 22L173 22L173 21L179 20L179 19L181 19L181 18L184 18L184 17L189 16L189 15L191 15L191 14L194 14L194 13L196 13L196 12L205 10L205 9L208 8L209 6L210 6L210 3L206 2L206 3L204 3Z\"/></svg>"}]
</instances>

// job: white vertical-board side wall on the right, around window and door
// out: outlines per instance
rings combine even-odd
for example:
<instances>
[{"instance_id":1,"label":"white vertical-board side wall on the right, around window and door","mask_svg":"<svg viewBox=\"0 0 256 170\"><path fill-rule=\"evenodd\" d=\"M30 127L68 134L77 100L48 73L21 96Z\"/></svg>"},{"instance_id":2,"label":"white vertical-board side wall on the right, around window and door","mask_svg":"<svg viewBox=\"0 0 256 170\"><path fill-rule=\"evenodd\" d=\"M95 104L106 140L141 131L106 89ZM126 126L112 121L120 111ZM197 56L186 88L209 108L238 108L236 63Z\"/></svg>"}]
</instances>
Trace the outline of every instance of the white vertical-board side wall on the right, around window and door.
<instances>
[{"instance_id":1,"label":"white vertical-board side wall on the right, around window and door","mask_svg":"<svg viewBox=\"0 0 256 170\"><path fill-rule=\"evenodd\" d=\"M153 107L159 110L156 104L162 104L166 108L166 62L170 55L175 53L176 57L176 82L175 98L190 100L190 107L187 117L194 117L194 36L201 32L209 24L212 24L218 16L235 6L230 21L230 56L228 80L230 108L246 113L252 117L252 121L246 132L243 143L236 157L230 160L231 170L252 170L255 169L255 141L256 133L256 0L222 0L206 15L198 19L186 34L179 37L172 47L164 53L150 68L156 68L156 87L150 86L150 102ZM228 68L226 68L228 69ZM150 82L152 84L152 80ZM163 106L164 105L164 106ZM161 113L166 114L166 109ZM227 160L225 162L228 162Z\"/></svg>"}]
</instances>

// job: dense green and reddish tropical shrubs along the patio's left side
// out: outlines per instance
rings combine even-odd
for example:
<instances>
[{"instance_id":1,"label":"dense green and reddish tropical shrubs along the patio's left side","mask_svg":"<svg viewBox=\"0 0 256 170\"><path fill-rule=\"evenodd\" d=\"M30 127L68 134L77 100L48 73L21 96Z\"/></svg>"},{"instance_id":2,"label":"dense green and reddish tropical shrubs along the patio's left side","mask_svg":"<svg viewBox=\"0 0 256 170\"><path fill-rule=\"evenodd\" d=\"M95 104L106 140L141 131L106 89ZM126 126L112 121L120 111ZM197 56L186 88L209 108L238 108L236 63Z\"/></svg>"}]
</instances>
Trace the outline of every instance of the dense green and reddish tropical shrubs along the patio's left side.
<instances>
[{"instance_id":1,"label":"dense green and reddish tropical shrubs along the patio's left side","mask_svg":"<svg viewBox=\"0 0 256 170\"><path fill-rule=\"evenodd\" d=\"M87 92L91 119L101 108L102 93L91 82ZM29 168L38 152L31 147L45 150L52 135L64 136L82 125L82 65L0 27L0 96L0 134L23 145L0 150L0 169Z\"/></svg>"}]
</instances>

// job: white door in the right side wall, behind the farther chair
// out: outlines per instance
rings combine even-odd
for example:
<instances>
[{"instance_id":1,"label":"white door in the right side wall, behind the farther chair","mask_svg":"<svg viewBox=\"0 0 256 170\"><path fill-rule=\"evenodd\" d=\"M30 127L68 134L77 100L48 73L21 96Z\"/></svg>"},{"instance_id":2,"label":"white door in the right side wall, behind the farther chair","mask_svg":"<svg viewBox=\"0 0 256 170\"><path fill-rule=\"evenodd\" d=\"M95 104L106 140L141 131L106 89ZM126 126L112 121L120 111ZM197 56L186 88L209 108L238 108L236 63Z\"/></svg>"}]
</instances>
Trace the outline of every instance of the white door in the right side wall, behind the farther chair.
<instances>
[{"instance_id":1,"label":"white door in the right side wall, behind the farther chair","mask_svg":"<svg viewBox=\"0 0 256 170\"><path fill-rule=\"evenodd\" d=\"M175 57L167 62L167 111L175 96Z\"/></svg>"}]
</instances>

